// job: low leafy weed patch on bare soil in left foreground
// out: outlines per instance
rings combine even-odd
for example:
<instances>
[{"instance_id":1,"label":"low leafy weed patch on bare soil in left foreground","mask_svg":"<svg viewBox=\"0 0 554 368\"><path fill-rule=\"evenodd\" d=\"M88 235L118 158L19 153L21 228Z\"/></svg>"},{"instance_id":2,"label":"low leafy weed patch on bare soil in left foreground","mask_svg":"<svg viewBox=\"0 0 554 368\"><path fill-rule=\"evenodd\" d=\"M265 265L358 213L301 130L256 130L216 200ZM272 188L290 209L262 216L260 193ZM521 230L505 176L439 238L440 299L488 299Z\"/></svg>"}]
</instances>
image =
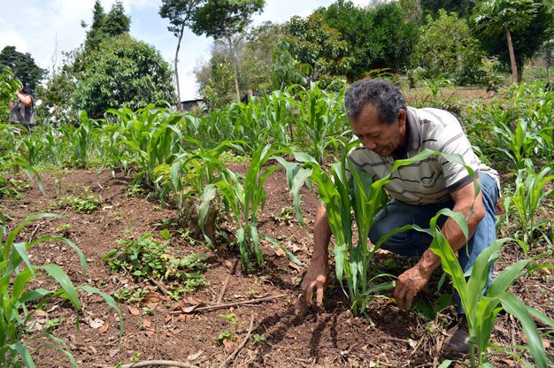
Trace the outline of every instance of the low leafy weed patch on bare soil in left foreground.
<instances>
[{"instance_id":1,"label":"low leafy weed patch on bare soil in left foreground","mask_svg":"<svg viewBox=\"0 0 554 368\"><path fill-rule=\"evenodd\" d=\"M119 241L119 247L103 259L112 271L130 272L135 280L151 278L169 282L170 296L175 299L207 285L202 275L207 268L203 263L205 254L175 257L169 252L168 241L160 243L152 236L146 233L135 240Z\"/></svg>"}]
</instances>

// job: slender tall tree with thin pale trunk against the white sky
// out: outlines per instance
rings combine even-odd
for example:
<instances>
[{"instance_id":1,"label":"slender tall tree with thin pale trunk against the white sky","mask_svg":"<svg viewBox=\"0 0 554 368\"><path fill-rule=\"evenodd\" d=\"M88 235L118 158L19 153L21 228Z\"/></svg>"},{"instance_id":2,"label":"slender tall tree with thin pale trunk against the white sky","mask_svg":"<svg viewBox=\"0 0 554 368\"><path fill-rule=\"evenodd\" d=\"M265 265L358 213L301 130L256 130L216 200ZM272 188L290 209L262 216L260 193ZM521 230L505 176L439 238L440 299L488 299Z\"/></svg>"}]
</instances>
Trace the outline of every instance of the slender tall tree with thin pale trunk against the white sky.
<instances>
[{"instance_id":1,"label":"slender tall tree with thin pale trunk against the white sky","mask_svg":"<svg viewBox=\"0 0 554 368\"><path fill-rule=\"evenodd\" d=\"M159 15L162 18L169 19L171 26L167 27L173 35L177 37L177 48L175 49L174 71L175 86L177 88L177 110L181 111L181 88L179 87L179 50L181 50L181 40L185 32L185 27L191 27L191 21L194 12L203 0L162 0L162 6L159 8Z\"/></svg>"}]
</instances>

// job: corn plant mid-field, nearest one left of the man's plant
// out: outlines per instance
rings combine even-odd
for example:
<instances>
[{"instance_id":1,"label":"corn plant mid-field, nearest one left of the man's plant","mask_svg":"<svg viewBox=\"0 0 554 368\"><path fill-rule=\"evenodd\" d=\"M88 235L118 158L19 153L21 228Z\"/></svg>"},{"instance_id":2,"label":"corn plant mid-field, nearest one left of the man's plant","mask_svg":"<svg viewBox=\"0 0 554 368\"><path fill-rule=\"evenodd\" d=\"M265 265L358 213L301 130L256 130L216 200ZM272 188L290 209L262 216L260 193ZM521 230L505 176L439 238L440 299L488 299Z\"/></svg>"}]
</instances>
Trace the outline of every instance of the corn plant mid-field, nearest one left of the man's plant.
<instances>
[{"instance_id":1,"label":"corn plant mid-field, nearest one left of the man's plant","mask_svg":"<svg viewBox=\"0 0 554 368\"><path fill-rule=\"evenodd\" d=\"M269 236L258 233L258 213L265 208L264 183L279 166L266 167L265 165L281 151L272 149L271 144L259 146L252 155L250 167L245 176L227 169L220 173L219 180L208 184L204 188L202 203L198 210L199 226L204 231L204 221L208 217L208 208L218 192L225 205L229 218L235 222L236 244L241 253L242 265L250 265L255 257L259 266L264 265L264 255L260 249L259 239L262 237L267 242L280 247L297 264L300 262L294 255L280 243ZM212 243L205 236L206 241Z\"/></svg>"}]
</instances>

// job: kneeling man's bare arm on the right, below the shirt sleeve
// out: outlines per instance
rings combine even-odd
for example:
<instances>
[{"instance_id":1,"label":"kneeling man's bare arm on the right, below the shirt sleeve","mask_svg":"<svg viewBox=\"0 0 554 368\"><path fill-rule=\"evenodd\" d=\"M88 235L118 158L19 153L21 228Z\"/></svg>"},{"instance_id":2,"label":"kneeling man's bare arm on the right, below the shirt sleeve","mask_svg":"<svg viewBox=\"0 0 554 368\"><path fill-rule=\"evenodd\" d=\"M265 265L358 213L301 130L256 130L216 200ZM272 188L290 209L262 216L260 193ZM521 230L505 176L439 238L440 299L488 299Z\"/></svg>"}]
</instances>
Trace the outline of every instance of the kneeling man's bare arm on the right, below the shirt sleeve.
<instances>
[{"instance_id":1,"label":"kneeling man's bare arm on the right, below the shirt sleeve","mask_svg":"<svg viewBox=\"0 0 554 368\"><path fill-rule=\"evenodd\" d=\"M466 217L467 229L469 231L468 235L471 239L481 219L485 216L481 191L475 197L473 182L471 182L467 184L466 187L459 188L456 192L452 193L451 196L454 200L454 208L452 211L460 212ZM473 197L475 197L474 203ZM470 213L472 205L473 211ZM454 219L450 217L446 219L444 226L442 226L442 233L455 252L466 245L466 236ZM404 301L408 308L412 308L413 297L425 287L427 281L431 277L431 273L433 273L435 268L439 265L441 265L441 257L437 256L433 250L427 249L419 259L417 265L414 265L411 269L398 277L394 296L400 308L404 308Z\"/></svg>"}]
</instances>

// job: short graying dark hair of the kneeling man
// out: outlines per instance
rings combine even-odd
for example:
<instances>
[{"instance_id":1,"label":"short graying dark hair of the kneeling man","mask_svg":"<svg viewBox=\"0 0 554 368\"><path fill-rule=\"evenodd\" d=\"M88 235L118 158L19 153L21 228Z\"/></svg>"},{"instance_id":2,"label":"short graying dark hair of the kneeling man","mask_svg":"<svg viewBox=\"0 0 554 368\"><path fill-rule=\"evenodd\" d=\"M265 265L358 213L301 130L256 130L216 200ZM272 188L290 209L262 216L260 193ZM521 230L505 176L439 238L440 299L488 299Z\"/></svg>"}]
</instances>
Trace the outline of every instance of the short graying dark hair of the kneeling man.
<instances>
[{"instance_id":1,"label":"short graying dark hair of the kneeling man","mask_svg":"<svg viewBox=\"0 0 554 368\"><path fill-rule=\"evenodd\" d=\"M377 108L381 122L386 124L396 121L400 109L406 110L406 100L400 88L385 80L358 80L346 91L344 106L350 119L358 119L368 103Z\"/></svg>"}]
</instances>

